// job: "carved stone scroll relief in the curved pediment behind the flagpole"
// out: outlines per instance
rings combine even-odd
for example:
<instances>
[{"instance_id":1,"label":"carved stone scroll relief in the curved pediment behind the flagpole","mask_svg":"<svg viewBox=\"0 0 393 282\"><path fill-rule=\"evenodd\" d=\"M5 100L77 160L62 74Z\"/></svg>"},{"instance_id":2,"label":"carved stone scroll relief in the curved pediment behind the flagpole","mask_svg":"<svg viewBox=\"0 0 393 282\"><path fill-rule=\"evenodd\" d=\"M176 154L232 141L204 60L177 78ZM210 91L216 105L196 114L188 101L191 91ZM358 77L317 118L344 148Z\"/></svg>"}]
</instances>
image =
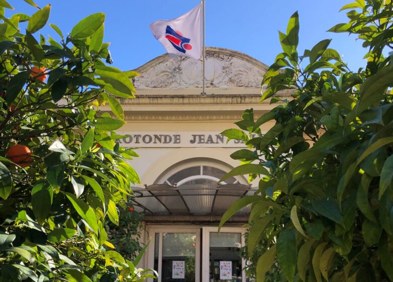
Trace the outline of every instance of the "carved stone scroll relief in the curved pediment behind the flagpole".
<instances>
[{"instance_id":1,"label":"carved stone scroll relief in the curved pediment behind the flagpole","mask_svg":"<svg viewBox=\"0 0 393 282\"><path fill-rule=\"evenodd\" d=\"M212 48L213 49L213 48ZM219 48L206 52L205 86L209 88L259 88L265 65L246 55ZM202 87L202 62L188 57L169 56L140 67L133 80L136 89L182 89ZM256 63L255 63L256 62ZM149 64L149 63L148 63Z\"/></svg>"}]
</instances>

